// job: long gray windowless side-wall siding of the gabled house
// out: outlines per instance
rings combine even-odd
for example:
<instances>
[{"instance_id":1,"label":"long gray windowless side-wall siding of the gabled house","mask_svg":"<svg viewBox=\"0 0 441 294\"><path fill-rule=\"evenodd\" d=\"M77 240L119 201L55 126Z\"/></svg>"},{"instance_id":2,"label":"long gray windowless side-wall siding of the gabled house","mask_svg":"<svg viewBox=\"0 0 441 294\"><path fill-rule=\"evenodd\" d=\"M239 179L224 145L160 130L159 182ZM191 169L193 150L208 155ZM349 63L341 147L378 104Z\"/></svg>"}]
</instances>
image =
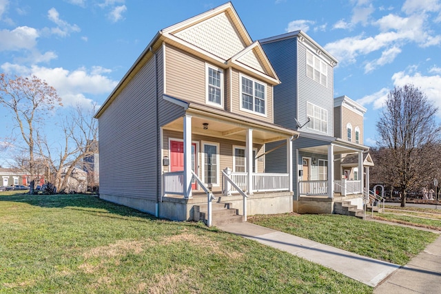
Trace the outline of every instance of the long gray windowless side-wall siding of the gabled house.
<instances>
[{"instance_id":1,"label":"long gray windowless side-wall siding of the gabled house","mask_svg":"<svg viewBox=\"0 0 441 294\"><path fill-rule=\"evenodd\" d=\"M156 200L154 58L99 118L100 193Z\"/></svg>"}]
</instances>

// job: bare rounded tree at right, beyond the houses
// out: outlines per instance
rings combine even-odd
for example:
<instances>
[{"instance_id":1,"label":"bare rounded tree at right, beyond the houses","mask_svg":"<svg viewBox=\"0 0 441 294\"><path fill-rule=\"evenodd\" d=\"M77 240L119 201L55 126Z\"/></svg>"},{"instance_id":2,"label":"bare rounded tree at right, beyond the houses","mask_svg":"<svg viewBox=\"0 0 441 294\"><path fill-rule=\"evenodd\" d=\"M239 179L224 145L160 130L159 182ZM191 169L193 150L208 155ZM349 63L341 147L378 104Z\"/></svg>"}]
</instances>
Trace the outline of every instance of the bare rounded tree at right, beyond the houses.
<instances>
[{"instance_id":1,"label":"bare rounded tree at right, beyond the houses","mask_svg":"<svg viewBox=\"0 0 441 294\"><path fill-rule=\"evenodd\" d=\"M424 175L436 171L435 147L441 127L435 122L438 107L413 85L395 87L387 96L382 117L376 124L382 148L378 162L384 182L401 193L401 207L406 206L407 191L433 180Z\"/></svg>"}]
</instances>

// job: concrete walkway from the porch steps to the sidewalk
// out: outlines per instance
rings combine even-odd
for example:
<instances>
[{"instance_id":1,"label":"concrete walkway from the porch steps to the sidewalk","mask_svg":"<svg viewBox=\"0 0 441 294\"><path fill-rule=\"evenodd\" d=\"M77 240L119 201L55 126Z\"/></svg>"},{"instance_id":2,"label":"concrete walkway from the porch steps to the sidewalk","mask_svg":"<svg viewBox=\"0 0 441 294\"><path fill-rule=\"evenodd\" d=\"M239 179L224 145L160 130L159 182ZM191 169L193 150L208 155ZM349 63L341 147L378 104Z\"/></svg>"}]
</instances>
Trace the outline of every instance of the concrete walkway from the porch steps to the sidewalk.
<instances>
[{"instance_id":1,"label":"concrete walkway from the porch steps to the sidewalk","mask_svg":"<svg viewBox=\"0 0 441 294\"><path fill-rule=\"evenodd\" d=\"M382 280L400 268L397 264L374 260L373 258L367 258L295 235L260 227L257 224L249 222L225 224L218 226L218 229L256 240L257 242L276 249L287 251L300 258L305 258L305 260L321 264L329 269L334 269L334 271L338 271L347 277L351 277L354 280L373 287L377 286ZM438 264L438 266L440 265L441 264ZM438 288L438 291L440 291L440 289L441 288Z\"/></svg>"}]
</instances>

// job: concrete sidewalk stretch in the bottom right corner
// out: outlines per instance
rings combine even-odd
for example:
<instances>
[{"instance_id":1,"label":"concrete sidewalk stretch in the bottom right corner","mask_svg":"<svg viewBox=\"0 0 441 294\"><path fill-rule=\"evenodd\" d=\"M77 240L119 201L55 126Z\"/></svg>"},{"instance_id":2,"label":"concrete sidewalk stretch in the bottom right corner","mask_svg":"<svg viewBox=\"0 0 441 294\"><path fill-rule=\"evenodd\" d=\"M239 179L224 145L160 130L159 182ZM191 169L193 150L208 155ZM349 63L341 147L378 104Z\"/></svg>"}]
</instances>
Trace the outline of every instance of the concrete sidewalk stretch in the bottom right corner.
<instances>
[{"instance_id":1,"label":"concrete sidewalk stretch in the bottom right corner","mask_svg":"<svg viewBox=\"0 0 441 294\"><path fill-rule=\"evenodd\" d=\"M373 293L441 293L441 236L378 285Z\"/></svg>"}]
</instances>

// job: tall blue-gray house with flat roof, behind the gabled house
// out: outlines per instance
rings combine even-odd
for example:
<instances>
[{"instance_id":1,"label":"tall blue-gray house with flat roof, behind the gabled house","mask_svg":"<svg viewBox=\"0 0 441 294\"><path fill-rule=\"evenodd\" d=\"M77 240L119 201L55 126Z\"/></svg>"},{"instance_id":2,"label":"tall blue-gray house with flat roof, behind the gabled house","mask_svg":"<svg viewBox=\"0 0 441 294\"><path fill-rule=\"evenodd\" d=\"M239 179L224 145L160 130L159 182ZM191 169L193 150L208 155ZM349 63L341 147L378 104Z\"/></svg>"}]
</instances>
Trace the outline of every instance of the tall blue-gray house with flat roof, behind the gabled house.
<instances>
[{"instance_id":1,"label":"tall blue-gray house with flat roof, behind the gabled house","mask_svg":"<svg viewBox=\"0 0 441 294\"><path fill-rule=\"evenodd\" d=\"M336 200L346 198L353 198L351 202L362 208L363 177L342 180L336 171L340 166L335 162L344 154L356 154L361 171L363 153L369 150L355 138L348 141L334 135L334 66L338 61L300 30L260 43L281 82L274 87L274 123L300 132L292 156L294 211L333 213ZM286 158L283 149L267 154L267 172L283 171Z\"/></svg>"}]
</instances>

